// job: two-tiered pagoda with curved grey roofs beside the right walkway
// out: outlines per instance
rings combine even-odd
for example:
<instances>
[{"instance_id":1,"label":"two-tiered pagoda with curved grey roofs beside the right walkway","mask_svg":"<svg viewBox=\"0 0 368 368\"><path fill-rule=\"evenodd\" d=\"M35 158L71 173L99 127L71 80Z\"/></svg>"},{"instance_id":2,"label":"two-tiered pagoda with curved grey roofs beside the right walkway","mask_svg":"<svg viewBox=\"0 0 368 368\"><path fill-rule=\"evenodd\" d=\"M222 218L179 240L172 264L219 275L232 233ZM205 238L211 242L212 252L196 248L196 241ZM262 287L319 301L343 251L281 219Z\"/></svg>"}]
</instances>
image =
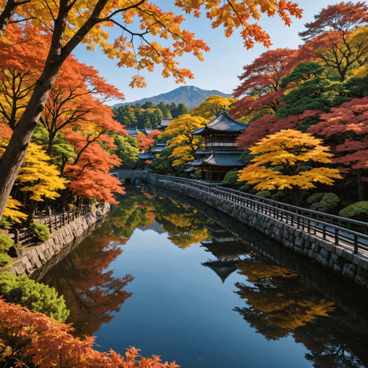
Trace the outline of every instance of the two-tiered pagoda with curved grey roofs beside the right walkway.
<instances>
[{"instance_id":1,"label":"two-tiered pagoda with curved grey roofs beside the right walkway","mask_svg":"<svg viewBox=\"0 0 368 368\"><path fill-rule=\"evenodd\" d=\"M190 163L195 170L201 170L201 180L221 182L228 171L244 166L238 161L243 151L237 149L235 139L246 128L248 124L234 120L223 111L205 127L192 132L205 140L205 147L197 150L200 159Z\"/></svg>"}]
</instances>

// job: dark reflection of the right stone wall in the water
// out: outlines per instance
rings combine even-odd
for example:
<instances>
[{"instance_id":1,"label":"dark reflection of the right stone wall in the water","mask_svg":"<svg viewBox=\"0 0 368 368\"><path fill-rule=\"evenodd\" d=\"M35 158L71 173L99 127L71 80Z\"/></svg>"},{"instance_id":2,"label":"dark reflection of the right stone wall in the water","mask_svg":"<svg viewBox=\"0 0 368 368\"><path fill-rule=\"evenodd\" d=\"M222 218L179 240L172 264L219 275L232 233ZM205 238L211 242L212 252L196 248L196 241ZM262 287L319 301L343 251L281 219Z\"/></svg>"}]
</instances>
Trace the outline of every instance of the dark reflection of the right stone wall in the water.
<instances>
[{"instance_id":1,"label":"dark reflection of the right stone wall in the water","mask_svg":"<svg viewBox=\"0 0 368 368\"><path fill-rule=\"evenodd\" d=\"M275 262L275 265L286 267L296 272L301 279L321 292L326 300L336 303L353 318L368 326L366 308L368 295L366 292L362 292L360 286L352 284L348 279L331 272L328 268L321 267L317 262L311 262L304 255L284 247L281 243L277 243L276 240L258 231L253 231L239 221L234 221L232 217L222 211L178 192L153 185L149 187L155 194L197 209L213 222L229 230L245 244L262 253L272 262Z\"/></svg>"}]
</instances>

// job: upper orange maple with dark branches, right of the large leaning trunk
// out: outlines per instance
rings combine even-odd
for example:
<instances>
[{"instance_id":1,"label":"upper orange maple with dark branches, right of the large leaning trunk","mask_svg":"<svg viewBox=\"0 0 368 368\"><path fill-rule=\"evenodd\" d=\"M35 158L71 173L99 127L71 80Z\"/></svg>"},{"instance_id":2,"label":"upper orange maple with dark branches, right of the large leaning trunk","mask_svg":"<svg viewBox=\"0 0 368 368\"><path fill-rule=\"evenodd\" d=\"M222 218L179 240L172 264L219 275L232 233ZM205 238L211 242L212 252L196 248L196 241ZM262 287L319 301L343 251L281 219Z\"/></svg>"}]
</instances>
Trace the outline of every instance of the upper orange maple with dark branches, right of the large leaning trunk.
<instances>
[{"instance_id":1,"label":"upper orange maple with dark branches, right of the large leaning trunk","mask_svg":"<svg viewBox=\"0 0 368 368\"><path fill-rule=\"evenodd\" d=\"M61 67L40 118L49 131L47 153L51 153L54 137L64 127L127 135L113 119L107 105L112 99L124 99L116 87L106 83L92 66L79 63L70 55Z\"/></svg>"}]
</instances>

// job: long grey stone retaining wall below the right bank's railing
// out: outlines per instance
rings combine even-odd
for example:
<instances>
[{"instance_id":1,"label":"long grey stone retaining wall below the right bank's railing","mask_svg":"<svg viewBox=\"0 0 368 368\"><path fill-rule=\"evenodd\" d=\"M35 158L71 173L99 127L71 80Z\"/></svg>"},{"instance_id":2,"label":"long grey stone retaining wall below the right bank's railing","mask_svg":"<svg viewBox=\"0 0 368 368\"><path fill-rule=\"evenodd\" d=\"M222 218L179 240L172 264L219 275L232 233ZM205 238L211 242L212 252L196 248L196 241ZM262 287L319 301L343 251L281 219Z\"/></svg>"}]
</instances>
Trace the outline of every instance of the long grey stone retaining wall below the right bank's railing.
<instances>
[{"instance_id":1,"label":"long grey stone retaining wall below the right bank's railing","mask_svg":"<svg viewBox=\"0 0 368 368\"><path fill-rule=\"evenodd\" d=\"M262 234L281 243L284 247L302 254L319 263L321 266L343 275L355 284L368 289L368 255L354 254L353 249L342 245L335 245L328 240L323 240L318 235L305 231L263 215L253 209L236 204L228 199L217 197L197 188L183 184L163 180L151 173L144 171L119 171L115 174L118 178L136 179L147 181L158 187L166 188L187 195L216 208L238 221L250 226Z\"/></svg>"}]
</instances>

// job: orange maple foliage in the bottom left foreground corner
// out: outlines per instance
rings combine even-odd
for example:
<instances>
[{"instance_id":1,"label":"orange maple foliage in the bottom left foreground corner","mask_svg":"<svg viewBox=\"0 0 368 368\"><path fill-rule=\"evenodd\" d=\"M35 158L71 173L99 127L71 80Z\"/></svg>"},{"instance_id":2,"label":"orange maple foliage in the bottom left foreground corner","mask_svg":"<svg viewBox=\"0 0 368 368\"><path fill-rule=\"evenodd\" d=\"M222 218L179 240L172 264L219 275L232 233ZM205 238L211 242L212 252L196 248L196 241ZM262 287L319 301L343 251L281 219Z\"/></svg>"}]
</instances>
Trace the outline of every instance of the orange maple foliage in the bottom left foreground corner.
<instances>
[{"instance_id":1,"label":"orange maple foliage in the bottom left foreground corner","mask_svg":"<svg viewBox=\"0 0 368 368\"><path fill-rule=\"evenodd\" d=\"M42 313L0 300L0 363L8 367L147 367L177 368L175 361L160 363L157 355L144 358L130 347L126 357L110 350L100 353L92 347L95 336L84 340L70 335L71 325L59 323ZM137 358L140 358L137 360Z\"/></svg>"}]
</instances>

